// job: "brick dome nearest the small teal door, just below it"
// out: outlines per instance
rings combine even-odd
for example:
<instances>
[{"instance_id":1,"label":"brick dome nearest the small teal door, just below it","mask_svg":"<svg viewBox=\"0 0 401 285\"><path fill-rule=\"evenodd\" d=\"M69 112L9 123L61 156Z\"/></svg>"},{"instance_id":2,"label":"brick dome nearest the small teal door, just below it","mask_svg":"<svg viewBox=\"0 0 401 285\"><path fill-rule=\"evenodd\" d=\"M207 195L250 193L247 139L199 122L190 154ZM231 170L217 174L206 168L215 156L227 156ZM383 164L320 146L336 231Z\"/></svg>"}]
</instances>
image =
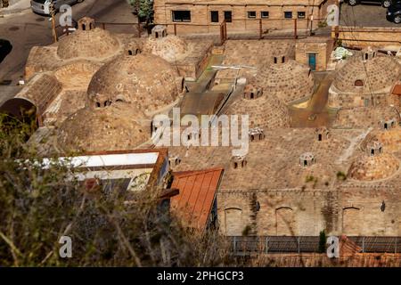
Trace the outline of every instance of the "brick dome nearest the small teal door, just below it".
<instances>
[{"instance_id":1,"label":"brick dome nearest the small teal door, just below it","mask_svg":"<svg viewBox=\"0 0 401 285\"><path fill-rule=\"evenodd\" d=\"M315 86L310 69L292 60L266 66L252 82L263 87L266 94L275 94L284 103L311 96Z\"/></svg>"}]
</instances>

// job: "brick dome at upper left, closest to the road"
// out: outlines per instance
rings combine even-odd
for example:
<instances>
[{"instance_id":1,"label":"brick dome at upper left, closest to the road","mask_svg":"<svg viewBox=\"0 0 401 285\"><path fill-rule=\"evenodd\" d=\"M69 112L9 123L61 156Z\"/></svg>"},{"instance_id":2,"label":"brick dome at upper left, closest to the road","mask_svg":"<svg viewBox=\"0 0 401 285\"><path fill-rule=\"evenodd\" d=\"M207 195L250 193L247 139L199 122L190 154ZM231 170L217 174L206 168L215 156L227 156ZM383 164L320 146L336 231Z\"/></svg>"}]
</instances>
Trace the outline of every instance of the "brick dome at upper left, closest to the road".
<instances>
[{"instance_id":1,"label":"brick dome at upper left, closest to the road","mask_svg":"<svg viewBox=\"0 0 401 285\"><path fill-rule=\"evenodd\" d=\"M62 37L57 48L63 60L74 58L106 58L119 50L119 40L102 28L78 29L68 37Z\"/></svg>"}]
</instances>

